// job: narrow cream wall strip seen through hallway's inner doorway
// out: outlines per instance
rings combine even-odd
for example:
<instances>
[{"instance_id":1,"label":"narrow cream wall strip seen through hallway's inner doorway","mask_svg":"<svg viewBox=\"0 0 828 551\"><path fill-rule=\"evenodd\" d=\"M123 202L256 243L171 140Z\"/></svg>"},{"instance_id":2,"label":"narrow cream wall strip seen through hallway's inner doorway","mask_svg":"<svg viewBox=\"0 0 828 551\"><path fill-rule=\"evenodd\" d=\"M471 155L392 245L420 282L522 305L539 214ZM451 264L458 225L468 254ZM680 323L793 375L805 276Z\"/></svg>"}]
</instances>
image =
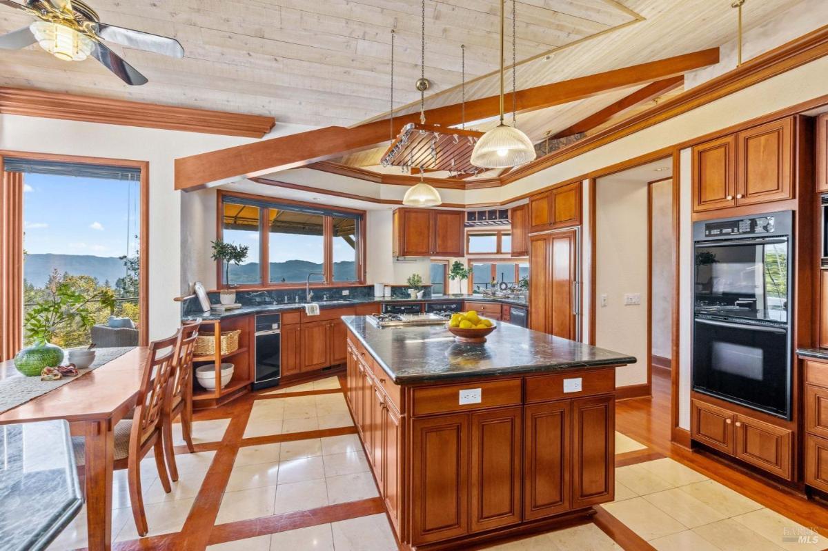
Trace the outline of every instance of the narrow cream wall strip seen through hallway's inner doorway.
<instances>
[{"instance_id":1,"label":"narrow cream wall strip seen through hallway's inner doorway","mask_svg":"<svg viewBox=\"0 0 828 551\"><path fill-rule=\"evenodd\" d=\"M652 208L652 346L656 356L672 357L672 180L650 184Z\"/></svg>"}]
</instances>

